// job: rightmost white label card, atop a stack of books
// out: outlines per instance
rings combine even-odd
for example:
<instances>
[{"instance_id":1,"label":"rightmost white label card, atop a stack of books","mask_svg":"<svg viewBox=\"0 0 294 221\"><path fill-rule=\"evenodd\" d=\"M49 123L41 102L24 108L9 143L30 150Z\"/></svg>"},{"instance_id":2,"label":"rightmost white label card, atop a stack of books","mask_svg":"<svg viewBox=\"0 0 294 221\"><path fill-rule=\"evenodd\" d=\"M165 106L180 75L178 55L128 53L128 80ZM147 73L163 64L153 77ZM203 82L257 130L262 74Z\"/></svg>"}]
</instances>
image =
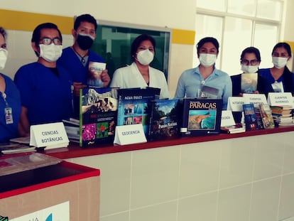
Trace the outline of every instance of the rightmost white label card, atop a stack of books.
<instances>
[{"instance_id":1,"label":"rightmost white label card, atop a stack of books","mask_svg":"<svg viewBox=\"0 0 294 221\"><path fill-rule=\"evenodd\" d=\"M290 92L268 93L268 104L270 104L271 106L289 106L290 105L294 108L293 97Z\"/></svg>"}]
</instances>

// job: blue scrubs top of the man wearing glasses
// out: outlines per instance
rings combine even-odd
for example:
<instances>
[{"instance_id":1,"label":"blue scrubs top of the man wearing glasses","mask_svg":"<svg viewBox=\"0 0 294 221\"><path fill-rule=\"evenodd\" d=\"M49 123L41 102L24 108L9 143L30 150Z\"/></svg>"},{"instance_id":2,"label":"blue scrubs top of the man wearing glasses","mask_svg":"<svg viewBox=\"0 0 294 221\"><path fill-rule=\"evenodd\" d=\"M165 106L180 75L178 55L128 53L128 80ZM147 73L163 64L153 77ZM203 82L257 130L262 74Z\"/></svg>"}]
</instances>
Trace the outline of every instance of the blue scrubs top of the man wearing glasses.
<instances>
[{"instance_id":1,"label":"blue scrubs top of the man wearing glasses","mask_svg":"<svg viewBox=\"0 0 294 221\"><path fill-rule=\"evenodd\" d=\"M61 67L58 75L36 62L23 65L14 81L21 93L21 104L28 109L33 124L61 122L72 116L72 78Z\"/></svg>"}]
</instances>

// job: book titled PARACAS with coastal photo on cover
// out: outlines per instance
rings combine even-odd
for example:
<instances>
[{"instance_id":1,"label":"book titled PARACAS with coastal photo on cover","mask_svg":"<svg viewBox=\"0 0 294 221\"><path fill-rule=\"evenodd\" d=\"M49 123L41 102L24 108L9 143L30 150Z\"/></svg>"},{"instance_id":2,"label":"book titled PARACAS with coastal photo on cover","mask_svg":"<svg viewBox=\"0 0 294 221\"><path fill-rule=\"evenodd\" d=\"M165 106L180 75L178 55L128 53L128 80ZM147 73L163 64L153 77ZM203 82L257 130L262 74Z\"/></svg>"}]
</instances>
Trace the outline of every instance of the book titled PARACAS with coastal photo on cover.
<instances>
[{"instance_id":1,"label":"book titled PARACAS with coastal photo on cover","mask_svg":"<svg viewBox=\"0 0 294 221\"><path fill-rule=\"evenodd\" d=\"M222 99L184 98L182 136L219 134Z\"/></svg>"}]
</instances>

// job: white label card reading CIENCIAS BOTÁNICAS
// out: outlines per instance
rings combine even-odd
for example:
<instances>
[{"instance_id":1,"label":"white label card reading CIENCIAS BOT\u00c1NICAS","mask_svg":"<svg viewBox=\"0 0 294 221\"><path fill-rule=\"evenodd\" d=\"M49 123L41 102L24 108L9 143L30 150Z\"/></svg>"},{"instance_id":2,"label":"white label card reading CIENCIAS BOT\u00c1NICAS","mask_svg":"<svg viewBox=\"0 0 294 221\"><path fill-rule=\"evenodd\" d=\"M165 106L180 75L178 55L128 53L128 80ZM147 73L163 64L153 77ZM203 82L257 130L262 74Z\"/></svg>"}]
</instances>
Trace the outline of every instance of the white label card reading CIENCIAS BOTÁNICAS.
<instances>
[{"instance_id":1,"label":"white label card reading CIENCIAS BOT\u00c1NICAS","mask_svg":"<svg viewBox=\"0 0 294 221\"><path fill-rule=\"evenodd\" d=\"M67 146L68 143L69 140L62 122L32 125L30 128L30 146L60 147L60 144Z\"/></svg>"}]
</instances>

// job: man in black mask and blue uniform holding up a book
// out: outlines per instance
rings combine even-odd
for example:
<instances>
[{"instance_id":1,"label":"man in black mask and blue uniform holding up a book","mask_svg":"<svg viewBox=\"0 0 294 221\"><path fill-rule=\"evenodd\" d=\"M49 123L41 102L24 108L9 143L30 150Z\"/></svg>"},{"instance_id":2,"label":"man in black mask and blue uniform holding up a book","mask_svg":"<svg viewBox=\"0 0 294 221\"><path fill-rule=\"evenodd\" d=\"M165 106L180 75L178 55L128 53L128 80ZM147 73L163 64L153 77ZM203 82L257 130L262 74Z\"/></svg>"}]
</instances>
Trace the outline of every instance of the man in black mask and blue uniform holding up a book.
<instances>
[{"instance_id":1,"label":"man in black mask and blue uniform holding up a book","mask_svg":"<svg viewBox=\"0 0 294 221\"><path fill-rule=\"evenodd\" d=\"M70 73L74 86L74 106L75 115L79 112L79 95L80 88L87 87L87 78L89 76L89 62L105 63L104 58L90 50L96 37L97 21L89 14L82 14L75 18L72 36L74 44L63 49L61 57L58 59L58 65ZM103 87L107 87L110 77L107 70L101 74Z\"/></svg>"}]
</instances>

